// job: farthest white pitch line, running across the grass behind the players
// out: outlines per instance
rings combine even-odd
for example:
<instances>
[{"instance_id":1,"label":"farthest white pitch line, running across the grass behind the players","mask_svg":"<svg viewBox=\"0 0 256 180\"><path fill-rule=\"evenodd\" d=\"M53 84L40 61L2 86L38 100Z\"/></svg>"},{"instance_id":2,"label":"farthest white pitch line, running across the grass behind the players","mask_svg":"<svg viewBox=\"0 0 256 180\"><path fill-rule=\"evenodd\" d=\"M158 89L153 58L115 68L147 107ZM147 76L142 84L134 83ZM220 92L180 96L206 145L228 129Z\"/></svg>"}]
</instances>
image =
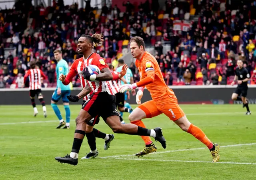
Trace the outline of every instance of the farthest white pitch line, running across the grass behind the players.
<instances>
[{"instance_id":1,"label":"farthest white pitch line, running across the grass behind the players","mask_svg":"<svg viewBox=\"0 0 256 180\"><path fill-rule=\"evenodd\" d=\"M244 112L225 112L225 113L188 113L186 115L191 116L191 115L228 115L228 114L235 114L235 113L244 113ZM27 122L16 122L16 123L0 123L0 125L16 125L16 124L29 124L29 123L52 123L52 122L57 122L58 120L55 121L27 121ZM74 119L70 121L75 121Z\"/></svg>"}]
</instances>

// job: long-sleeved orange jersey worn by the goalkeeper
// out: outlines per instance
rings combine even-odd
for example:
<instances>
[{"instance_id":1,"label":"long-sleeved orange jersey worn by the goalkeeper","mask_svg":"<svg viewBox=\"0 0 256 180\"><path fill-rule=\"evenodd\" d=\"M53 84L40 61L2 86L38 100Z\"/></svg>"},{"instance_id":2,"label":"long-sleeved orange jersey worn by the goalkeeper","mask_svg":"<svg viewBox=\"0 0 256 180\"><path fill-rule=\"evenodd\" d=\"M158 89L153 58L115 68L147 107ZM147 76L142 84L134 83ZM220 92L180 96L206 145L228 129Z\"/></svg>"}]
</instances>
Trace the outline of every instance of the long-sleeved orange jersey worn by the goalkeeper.
<instances>
[{"instance_id":1,"label":"long-sleeved orange jersey worn by the goalkeeper","mask_svg":"<svg viewBox=\"0 0 256 180\"><path fill-rule=\"evenodd\" d=\"M153 55L145 51L140 60L136 59L135 64L138 67L140 79L144 79L147 76L154 79L153 83L146 85L146 88L156 104L177 103L177 98L172 89L164 82L158 62ZM149 73L150 71L154 72L154 76Z\"/></svg>"}]
</instances>

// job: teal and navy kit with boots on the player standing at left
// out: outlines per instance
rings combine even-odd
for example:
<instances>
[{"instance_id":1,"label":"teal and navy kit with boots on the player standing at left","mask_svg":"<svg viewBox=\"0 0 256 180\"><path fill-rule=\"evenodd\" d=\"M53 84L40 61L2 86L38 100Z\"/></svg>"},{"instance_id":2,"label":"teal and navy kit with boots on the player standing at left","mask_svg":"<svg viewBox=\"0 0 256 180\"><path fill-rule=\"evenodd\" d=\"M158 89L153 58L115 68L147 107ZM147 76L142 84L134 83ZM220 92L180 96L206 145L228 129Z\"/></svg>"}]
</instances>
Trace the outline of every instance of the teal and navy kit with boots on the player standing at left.
<instances>
[{"instance_id":1,"label":"teal and navy kit with boots on the player standing at left","mask_svg":"<svg viewBox=\"0 0 256 180\"><path fill-rule=\"evenodd\" d=\"M57 75L57 87L52 94L52 101L57 103L61 98L63 103L69 103L69 100L67 98L68 95L70 95L70 85L64 85L62 81L59 80L60 74L67 75L68 74L68 63L64 60L61 59L56 66L56 75ZM61 94L57 94L58 88L61 89ZM62 119L62 116L60 114L60 110L57 106L57 104L51 103L52 109L54 110L54 113L60 120L61 125L65 125L64 120ZM69 105L64 105L64 109L66 111L66 126L64 129L69 128L69 122L70 122L70 108ZM61 126L59 125L57 128L60 128Z\"/></svg>"}]
</instances>

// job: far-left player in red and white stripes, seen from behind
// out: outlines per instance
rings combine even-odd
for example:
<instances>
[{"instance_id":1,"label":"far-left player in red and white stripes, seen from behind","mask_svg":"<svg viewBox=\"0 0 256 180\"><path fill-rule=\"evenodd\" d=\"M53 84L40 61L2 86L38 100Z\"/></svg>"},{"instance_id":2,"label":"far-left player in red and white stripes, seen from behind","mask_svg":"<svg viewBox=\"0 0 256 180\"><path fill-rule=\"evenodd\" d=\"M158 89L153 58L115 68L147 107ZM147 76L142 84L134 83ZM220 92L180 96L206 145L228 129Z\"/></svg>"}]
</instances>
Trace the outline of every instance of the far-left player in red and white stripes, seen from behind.
<instances>
[{"instance_id":1,"label":"far-left player in red and white stripes, seen from behind","mask_svg":"<svg viewBox=\"0 0 256 180\"><path fill-rule=\"evenodd\" d=\"M40 103L43 107L44 117L46 117L46 106L44 102L44 97L41 91L41 78L46 79L46 75L44 75L41 69L36 67L35 61L30 61L30 69L26 72L24 76L24 84L26 82L27 77L29 78L29 94L32 106L34 108L34 116L38 114L38 110L36 108L35 96L39 99Z\"/></svg>"}]
</instances>

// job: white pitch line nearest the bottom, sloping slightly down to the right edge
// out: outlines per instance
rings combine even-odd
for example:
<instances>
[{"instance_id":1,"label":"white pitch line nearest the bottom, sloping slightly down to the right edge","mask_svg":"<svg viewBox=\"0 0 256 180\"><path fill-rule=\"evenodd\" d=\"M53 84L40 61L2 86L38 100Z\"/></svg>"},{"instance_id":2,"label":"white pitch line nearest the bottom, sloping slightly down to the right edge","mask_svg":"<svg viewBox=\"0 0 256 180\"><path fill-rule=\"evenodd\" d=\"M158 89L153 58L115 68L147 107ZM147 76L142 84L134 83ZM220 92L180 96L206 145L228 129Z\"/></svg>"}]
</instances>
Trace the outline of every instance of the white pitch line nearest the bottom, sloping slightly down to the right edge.
<instances>
[{"instance_id":1,"label":"white pitch line nearest the bottom, sloping slightly down to the right edge","mask_svg":"<svg viewBox=\"0 0 256 180\"><path fill-rule=\"evenodd\" d=\"M142 159L142 158L112 158L116 160L145 160L145 161L161 161L161 162L199 162L199 163L214 163L212 161L192 161L192 160L161 160L161 159ZM256 163L250 162L215 162L218 164L248 164L248 165L256 165Z\"/></svg>"}]
</instances>

